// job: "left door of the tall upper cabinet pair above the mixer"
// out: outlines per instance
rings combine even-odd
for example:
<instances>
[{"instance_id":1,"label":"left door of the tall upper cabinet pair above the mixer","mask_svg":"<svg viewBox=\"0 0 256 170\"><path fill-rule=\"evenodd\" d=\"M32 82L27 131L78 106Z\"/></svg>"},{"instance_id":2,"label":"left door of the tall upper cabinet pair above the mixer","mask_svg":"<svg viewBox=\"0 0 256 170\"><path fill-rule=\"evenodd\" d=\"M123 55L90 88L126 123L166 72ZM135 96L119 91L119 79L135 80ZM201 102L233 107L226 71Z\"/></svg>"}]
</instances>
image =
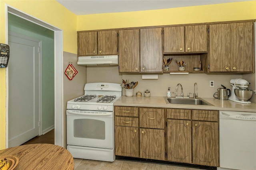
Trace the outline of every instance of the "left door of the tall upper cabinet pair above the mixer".
<instances>
[{"instance_id":1,"label":"left door of the tall upper cabinet pair above the mixer","mask_svg":"<svg viewBox=\"0 0 256 170\"><path fill-rule=\"evenodd\" d=\"M230 23L209 25L210 72L230 71Z\"/></svg>"}]
</instances>

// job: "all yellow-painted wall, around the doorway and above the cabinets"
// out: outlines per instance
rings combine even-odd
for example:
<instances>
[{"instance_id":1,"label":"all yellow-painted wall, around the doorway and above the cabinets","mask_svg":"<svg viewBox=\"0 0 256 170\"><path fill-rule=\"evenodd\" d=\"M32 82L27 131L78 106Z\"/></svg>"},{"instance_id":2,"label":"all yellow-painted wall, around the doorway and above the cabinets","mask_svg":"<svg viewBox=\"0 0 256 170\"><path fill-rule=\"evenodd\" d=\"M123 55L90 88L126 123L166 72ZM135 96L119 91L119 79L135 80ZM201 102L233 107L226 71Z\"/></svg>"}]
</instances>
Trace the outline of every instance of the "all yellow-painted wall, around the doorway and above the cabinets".
<instances>
[{"instance_id":1,"label":"all yellow-painted wall, around the doorway and above the cabinets","mask_svg":"<svg viewBox=\"0 0 256 170\"><path fill-rule=\"evenodd\" d=\"M55 0L0 0L1 43L5 43L5 3L62 29L64 51L75 54L76 31L256 18L256 1L75 16ZM0 149L5 148L5 74L5 69L0 68Z\"/></svg>"}]
</instances>

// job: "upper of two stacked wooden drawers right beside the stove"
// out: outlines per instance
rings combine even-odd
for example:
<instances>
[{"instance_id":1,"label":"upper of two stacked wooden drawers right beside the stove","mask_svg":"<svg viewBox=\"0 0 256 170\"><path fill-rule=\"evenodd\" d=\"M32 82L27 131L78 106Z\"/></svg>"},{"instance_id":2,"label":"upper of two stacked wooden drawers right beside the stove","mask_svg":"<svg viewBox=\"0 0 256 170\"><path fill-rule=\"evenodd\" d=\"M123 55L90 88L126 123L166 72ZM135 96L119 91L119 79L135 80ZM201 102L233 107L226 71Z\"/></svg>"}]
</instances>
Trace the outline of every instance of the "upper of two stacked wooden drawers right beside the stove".
<instances>
[{"instance_id":1,"label":"upper of two stacked wooden drawers right beside the stove","mask_svg":"<svg viewBox=\"0 0 256 170\"><path fill-rule=\"evenodd\" d=\"M115 106L115 115L138 117L138 107Z\"/></svg>"}]
</instances>

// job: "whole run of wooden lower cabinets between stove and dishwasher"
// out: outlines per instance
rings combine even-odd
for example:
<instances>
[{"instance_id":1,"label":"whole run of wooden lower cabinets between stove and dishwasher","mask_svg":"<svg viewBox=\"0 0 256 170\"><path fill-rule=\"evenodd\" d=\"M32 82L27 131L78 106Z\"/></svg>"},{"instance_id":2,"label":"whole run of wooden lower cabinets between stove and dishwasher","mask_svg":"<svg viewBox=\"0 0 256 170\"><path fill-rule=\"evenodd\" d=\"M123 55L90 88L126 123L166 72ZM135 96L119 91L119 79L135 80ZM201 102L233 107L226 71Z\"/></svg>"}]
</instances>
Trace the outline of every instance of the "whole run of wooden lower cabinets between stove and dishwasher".
<instances>
[{"instance_id":1,"label":"whole run of wooden lower cabinets between stove and dishwasher","mask_svg":"<svg viewBox=\"0 0 256 170\"><path fill-rule=\"evenodd\" d=\"M218 111L148 107L115 107L115 111L116 155L219 166Z\"/></svg>"}]
</instances>

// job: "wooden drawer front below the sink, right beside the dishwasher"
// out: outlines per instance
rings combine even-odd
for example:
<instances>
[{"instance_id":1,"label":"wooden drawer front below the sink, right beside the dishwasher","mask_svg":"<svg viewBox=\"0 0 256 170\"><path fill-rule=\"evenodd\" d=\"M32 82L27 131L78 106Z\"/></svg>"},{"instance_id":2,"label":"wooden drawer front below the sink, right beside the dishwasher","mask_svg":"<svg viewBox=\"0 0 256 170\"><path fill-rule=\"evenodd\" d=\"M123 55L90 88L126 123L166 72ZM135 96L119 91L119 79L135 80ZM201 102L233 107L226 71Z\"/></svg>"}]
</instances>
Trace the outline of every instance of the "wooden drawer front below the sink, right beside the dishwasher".
<instances>
[{"instance_id":1,"label":"wooden drawer front below the sink, right beside the dishwasher","mask_svg":"<svg viewBox=\"0 0 256 170\"><path fill-rule=\"evenodd\" d=\"M193 120L218 121L218 111L216 110L192 110Z\"/></svg>"}]
</instances>

